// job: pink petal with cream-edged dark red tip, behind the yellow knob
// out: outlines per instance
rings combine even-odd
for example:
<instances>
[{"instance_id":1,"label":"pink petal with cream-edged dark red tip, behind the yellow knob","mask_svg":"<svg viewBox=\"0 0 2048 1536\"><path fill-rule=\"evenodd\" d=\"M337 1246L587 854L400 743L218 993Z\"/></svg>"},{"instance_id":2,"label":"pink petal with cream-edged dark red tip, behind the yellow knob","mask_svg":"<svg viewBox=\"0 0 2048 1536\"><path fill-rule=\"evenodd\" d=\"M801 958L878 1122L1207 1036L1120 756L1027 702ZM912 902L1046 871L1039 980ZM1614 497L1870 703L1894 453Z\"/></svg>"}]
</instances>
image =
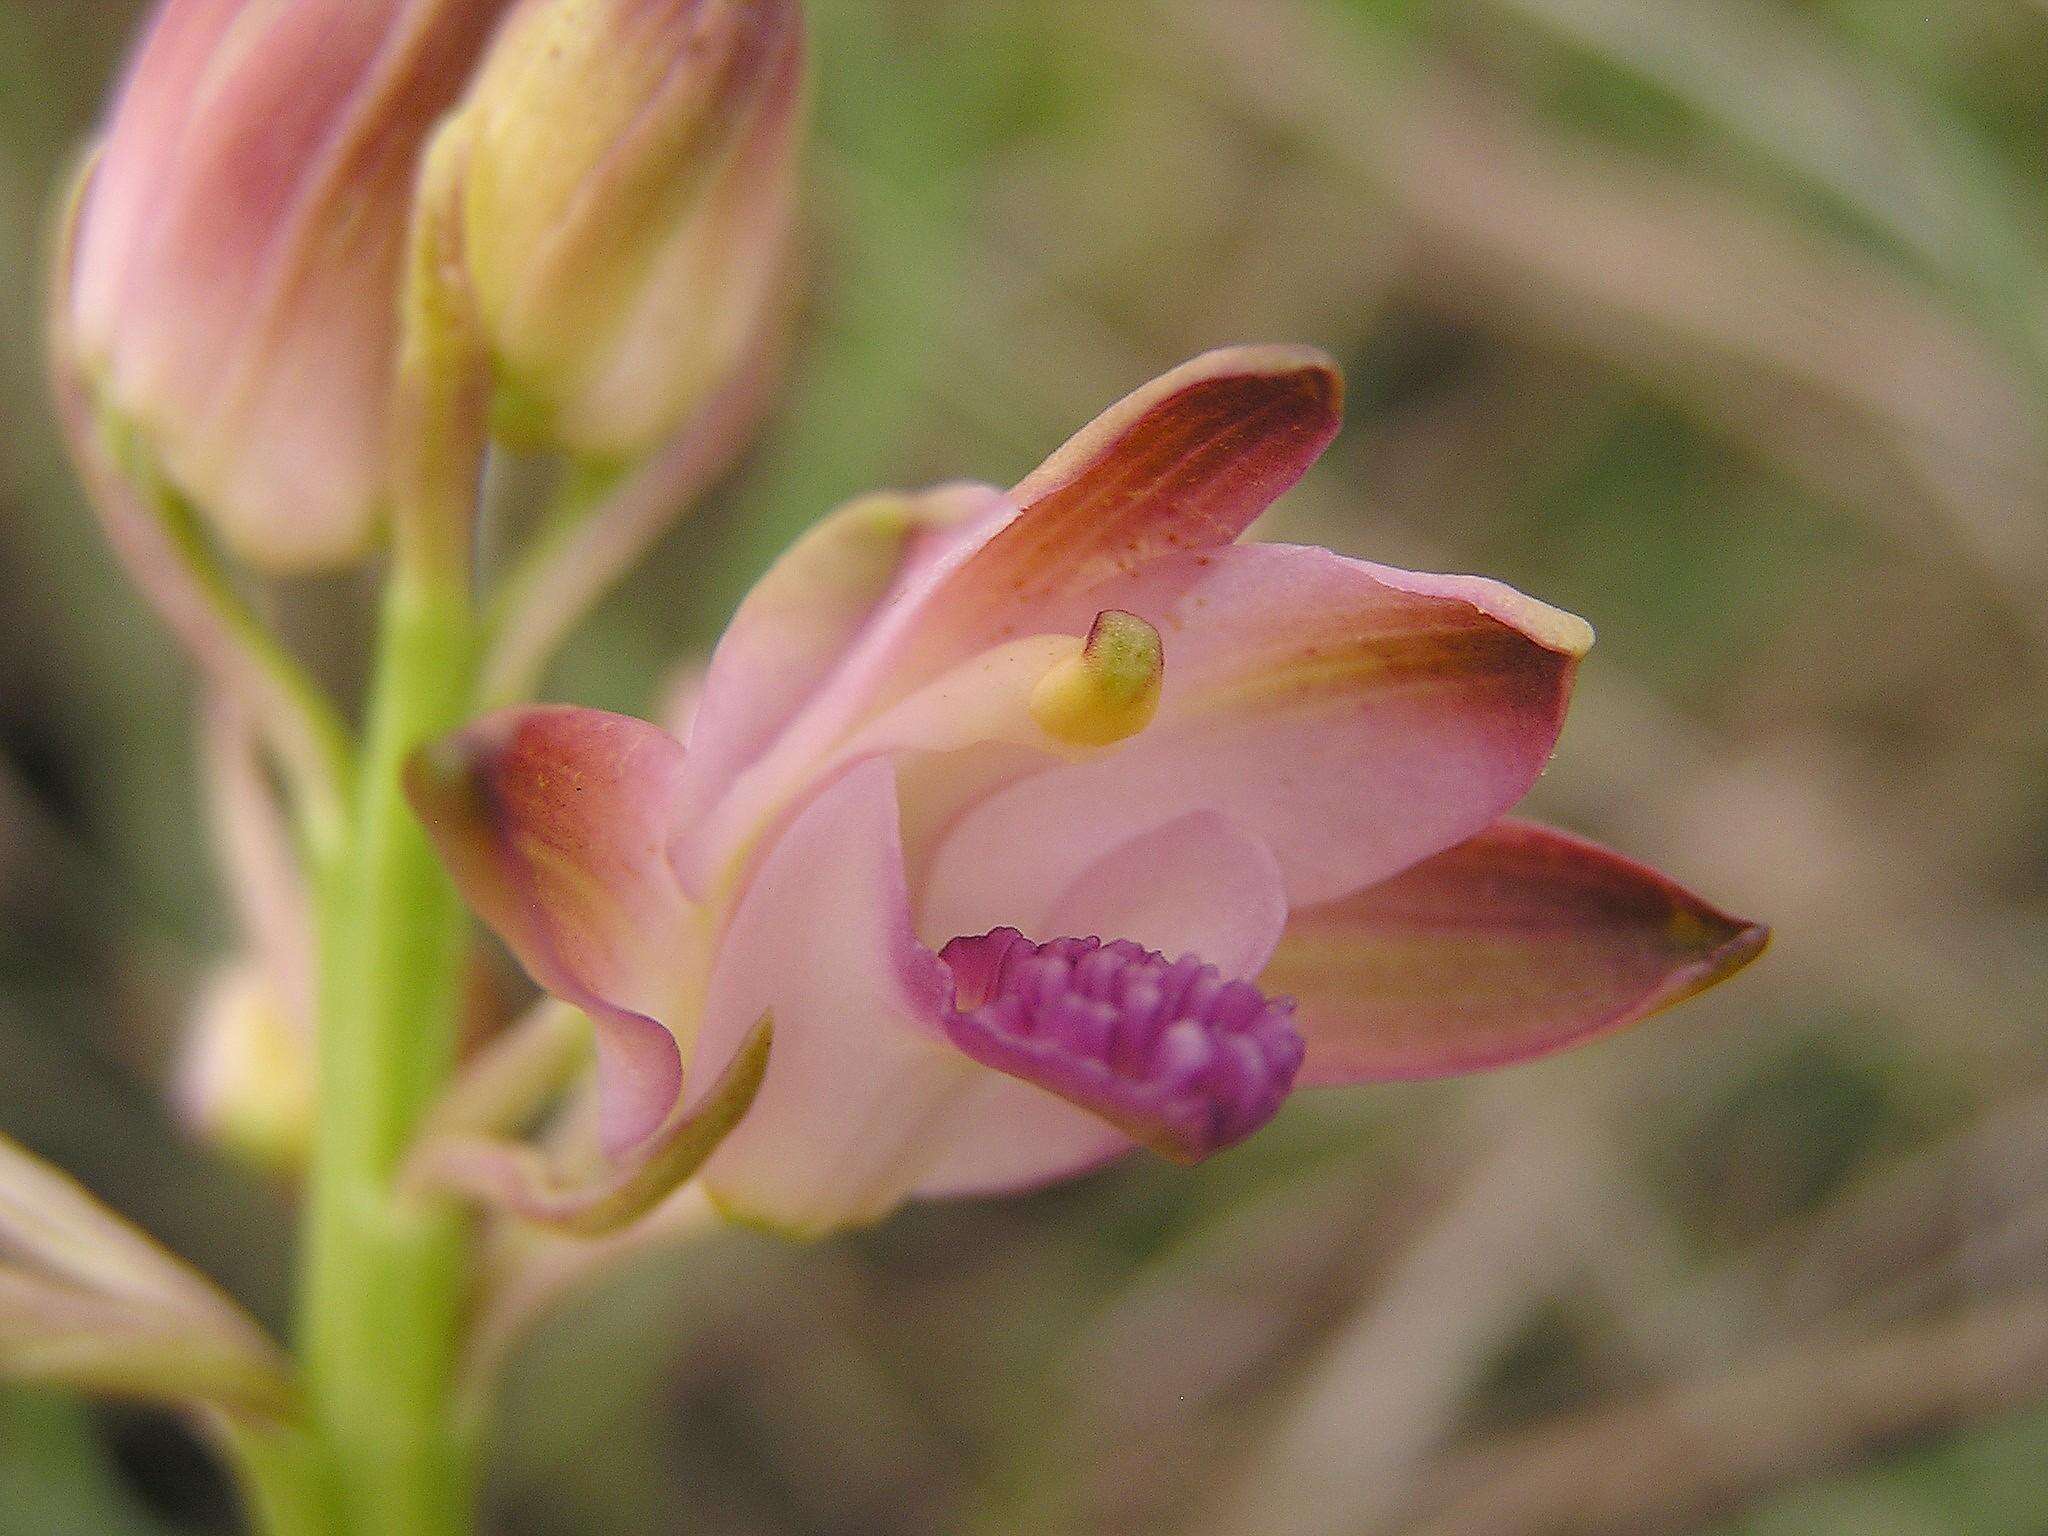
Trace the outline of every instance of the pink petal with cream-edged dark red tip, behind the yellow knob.
<instances>
[{"instance_id":1,"label":"pink petal with cream-edged dark red tip, behind the yellow knob","mask_svg":"<svg viewBox=\"0 0 2048 1536\"><path fill-rule=\"evenodd\" d=\"M1098 598L1159 627L1159 719L967 811L932 860L932 924L985 932L1016 891L1192 811L1270 848L1290 905L1382 881L1522 799L1591 639L1493 582L1284 545L1176 555Z\"/></svg>"}]
</instances>

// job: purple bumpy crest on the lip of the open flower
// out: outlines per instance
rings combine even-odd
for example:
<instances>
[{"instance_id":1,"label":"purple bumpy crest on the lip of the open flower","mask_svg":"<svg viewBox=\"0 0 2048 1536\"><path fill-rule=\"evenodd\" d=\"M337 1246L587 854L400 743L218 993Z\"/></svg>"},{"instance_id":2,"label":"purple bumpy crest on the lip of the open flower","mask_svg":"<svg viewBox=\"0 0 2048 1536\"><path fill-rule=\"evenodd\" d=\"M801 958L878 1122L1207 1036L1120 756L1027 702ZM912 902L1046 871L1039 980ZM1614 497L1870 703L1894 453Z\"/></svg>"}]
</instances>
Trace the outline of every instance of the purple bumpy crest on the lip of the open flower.
<instances>
[{"instance_id":1,"label":"purple bumpy crest on the lip of the open flower","mask_svg":"<svg viewBox=\"0 0 2048 1536\"><path fill-rule=\"evenodd\" d=\"M1032 1081L1182 1163L1278 1114L1305 1055L1294 1004L1227 981L1200 956L1130 940L1016 928L940 950L956 1008L946 1036L985 1067Z\"/></svg>"}]
</instances>

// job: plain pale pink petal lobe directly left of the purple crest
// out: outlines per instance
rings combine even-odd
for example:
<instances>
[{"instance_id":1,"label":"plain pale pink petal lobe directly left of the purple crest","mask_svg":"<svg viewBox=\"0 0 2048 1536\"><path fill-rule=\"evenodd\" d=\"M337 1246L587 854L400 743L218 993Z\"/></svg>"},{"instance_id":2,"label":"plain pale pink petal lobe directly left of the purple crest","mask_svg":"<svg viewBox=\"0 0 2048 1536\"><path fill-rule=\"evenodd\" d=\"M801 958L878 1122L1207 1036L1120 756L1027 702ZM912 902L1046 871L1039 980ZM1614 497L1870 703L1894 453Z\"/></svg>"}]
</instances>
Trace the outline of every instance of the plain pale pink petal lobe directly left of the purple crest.
<instances>
[{"instance_id":1,"label":"plain pale pink petal lobe directly left of the purple crest","mask_svg":"<svg viewBox=\"0 0 2048 1536\"><path fill-rule=\"evenodd\" d=\"M983 1069L940 1036L952 979L909 928L895 776L870 760L784 831L719 946L688 1092L774 1018L768 1077L705 1167L727 1212L819 1233L895 1208Z\"/></svg>"}]
</instances>

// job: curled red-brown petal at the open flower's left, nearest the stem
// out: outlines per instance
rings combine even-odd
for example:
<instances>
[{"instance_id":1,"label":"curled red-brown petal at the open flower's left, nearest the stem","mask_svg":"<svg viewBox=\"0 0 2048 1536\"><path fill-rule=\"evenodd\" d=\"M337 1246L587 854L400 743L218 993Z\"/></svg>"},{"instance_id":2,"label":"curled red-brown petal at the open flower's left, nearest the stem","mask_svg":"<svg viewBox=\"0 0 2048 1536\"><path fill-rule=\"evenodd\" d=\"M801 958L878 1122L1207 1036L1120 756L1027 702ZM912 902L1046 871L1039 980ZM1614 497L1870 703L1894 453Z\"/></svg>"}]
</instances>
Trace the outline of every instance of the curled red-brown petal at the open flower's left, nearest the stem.
<instances>
[{"instance_id":1,"label":"curled red-brown petal at the open flower's left, nearest the stem","mask_svg":"<svg viewBox=\"0 0 2048 1536\"><path fill-rule=\"evenodd\" d=\"M700 950L668 864L682 762L645 721L557 707L492 715L408 772L469 903L535 981L598 1022L612 1151L659 1126L682 1083L672 1030L688 1028Z\"/></svg>"}]
</instances>

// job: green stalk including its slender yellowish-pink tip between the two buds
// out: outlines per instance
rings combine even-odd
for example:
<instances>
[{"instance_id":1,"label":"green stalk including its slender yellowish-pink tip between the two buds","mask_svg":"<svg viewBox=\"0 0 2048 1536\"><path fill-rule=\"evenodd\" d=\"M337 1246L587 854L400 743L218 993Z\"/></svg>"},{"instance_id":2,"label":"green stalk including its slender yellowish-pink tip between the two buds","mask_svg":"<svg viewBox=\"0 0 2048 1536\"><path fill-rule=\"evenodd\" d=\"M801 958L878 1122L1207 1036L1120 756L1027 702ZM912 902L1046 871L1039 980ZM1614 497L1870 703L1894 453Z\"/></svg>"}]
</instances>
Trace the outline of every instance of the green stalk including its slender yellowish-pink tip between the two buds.
<instances>
[{"instance_id":1,"label":"green stalk including its slender yellowish-pink tip between the two buds","mask_svg":"<svg viewBox=\"0 0 2048 1536\"><path fill-rule=\"evenodd\" d=\"M336 1536L469 1536L475 1446L457 1405L463 1212L397 1174L455 1069L467 920L406 803L406 760L475 698L471 528L487 371L461 270L467 127L428 147L397 365L391 573L346 852L324 870L319 1135L303 1280L305 1391Z\"/></svg>"}]
</instances>

